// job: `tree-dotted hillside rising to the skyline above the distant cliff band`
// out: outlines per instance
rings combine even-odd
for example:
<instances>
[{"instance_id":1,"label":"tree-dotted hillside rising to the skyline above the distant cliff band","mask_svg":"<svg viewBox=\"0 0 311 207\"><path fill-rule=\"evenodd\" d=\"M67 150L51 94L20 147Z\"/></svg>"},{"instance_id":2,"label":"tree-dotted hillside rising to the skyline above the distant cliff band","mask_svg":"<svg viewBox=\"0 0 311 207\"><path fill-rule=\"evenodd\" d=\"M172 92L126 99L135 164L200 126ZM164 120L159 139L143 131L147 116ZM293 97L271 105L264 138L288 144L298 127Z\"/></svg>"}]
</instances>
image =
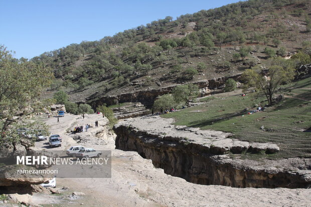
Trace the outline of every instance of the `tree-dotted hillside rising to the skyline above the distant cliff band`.
<instances>
[{"instance_id":1,"label":"tree-dotted hillside rising to the skyline above the distant cliff band","mask_svg":"<svg viewBox=\"0 0 311 207\"><path fill-rule=\"evenodd\" d=\"M311 3L247 1L153 21L99 41L32 59L54 70L47 96L64 90L73 102L229 77L269 57L310 47Z\"/></svg>"}]
</instances>

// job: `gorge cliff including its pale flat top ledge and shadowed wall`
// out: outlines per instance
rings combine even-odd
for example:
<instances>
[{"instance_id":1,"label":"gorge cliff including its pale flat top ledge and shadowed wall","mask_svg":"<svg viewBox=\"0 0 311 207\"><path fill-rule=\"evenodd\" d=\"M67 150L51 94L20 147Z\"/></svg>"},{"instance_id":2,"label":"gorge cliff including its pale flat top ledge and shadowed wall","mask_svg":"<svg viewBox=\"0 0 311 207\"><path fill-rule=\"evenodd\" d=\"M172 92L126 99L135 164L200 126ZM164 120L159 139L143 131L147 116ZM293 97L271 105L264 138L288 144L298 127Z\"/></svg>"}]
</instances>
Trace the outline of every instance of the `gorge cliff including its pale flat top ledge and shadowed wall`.
<instances>
[{"instance_id":1,"label":"gorge cliff including its pale flat top ledge and shadowed wall","mask_svg":"<svg viewBox=\"0 0 311 207\"><path fill-rule=\"evenodd\" d=\"M268 188L311 184L310 159L233 160L225 153L275 153L279 149L273 144L232 140L229 133L176 128L170 124L172 120L158 119L139 118L115 125L116 148L137 151L167 174L198 184Z\"/></svg>"}]
</instances>

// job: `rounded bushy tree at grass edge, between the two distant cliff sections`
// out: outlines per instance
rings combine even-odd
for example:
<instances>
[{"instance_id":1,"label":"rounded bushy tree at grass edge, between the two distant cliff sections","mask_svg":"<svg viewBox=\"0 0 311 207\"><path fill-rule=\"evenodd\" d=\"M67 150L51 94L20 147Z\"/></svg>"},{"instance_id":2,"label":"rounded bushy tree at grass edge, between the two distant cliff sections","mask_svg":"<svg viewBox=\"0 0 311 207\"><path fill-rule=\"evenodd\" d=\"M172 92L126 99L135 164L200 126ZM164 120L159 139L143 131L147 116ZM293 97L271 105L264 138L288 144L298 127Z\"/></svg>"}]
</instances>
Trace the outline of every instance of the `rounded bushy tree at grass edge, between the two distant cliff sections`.
<instances>
[{"instance_id":1,"label":"rounded bushy tree at grass edge, between the two distant cliff sections","mask_svg":"<svg viewBox=\"0 0 311 207\"><path fill-rule=\"evenodd\" d=\"M198 97L199 87L192 83L176 86L172 90L172 94L176 103L184 102L187 106L189 106L190 100Z\"/></svg>"}]
</instances>

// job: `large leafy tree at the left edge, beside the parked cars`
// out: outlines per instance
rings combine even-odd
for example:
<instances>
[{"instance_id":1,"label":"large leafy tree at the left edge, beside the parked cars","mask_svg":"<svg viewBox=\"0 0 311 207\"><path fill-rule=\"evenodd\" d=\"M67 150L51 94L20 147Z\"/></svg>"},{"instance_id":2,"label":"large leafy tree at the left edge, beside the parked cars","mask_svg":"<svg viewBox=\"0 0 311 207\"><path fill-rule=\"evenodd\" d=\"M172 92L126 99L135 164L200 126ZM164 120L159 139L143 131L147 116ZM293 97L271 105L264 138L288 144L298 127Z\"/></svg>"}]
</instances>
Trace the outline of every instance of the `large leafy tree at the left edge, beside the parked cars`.
<instances>
[{"instance_id":1,"label":"large leafy tree at the left edge, beside the parked cars","mask_svg":"<svg viewBox=\"0 0 311 207\"><path fill-rule=\"evenodd\" d=\"M17 129L47 129L42 122L31 123L26 117L44 111L51 104L51 100L40 101L40 96L52 79L50 68L32 61L19 63L12 51L0 45L0 145L16 149L21 144L28 149L33 142L27 143Z\"/></svg>"}]
</instances>

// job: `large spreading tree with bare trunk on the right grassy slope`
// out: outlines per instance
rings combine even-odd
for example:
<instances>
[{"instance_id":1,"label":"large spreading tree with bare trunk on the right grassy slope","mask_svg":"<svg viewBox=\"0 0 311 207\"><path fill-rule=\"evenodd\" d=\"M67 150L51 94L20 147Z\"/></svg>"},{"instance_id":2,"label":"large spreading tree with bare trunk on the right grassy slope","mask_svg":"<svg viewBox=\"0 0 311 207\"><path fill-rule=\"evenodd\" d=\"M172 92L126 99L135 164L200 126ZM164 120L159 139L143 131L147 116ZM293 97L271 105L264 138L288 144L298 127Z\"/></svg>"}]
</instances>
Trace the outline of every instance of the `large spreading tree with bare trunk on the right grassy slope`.
<instances>
[{"instance_id":1,"label":"large spreading tree with bare trunk on the right grassy slope","mask_svg":"<svg viewBox=\"0 0 311 207\"><path fill-rule=\"evenodd\" d=\"M272 65L269 67L266 76L262 76L262 71L259 67L245 70L242 74L242 79L245 81L244 89L255 88L256 91L263 92L268 100L269 106L271 106L273 104L272 97L277 86L294 78L294 67L290 64L284 64L284 66Z\"/></svg>"}]
</instances>

